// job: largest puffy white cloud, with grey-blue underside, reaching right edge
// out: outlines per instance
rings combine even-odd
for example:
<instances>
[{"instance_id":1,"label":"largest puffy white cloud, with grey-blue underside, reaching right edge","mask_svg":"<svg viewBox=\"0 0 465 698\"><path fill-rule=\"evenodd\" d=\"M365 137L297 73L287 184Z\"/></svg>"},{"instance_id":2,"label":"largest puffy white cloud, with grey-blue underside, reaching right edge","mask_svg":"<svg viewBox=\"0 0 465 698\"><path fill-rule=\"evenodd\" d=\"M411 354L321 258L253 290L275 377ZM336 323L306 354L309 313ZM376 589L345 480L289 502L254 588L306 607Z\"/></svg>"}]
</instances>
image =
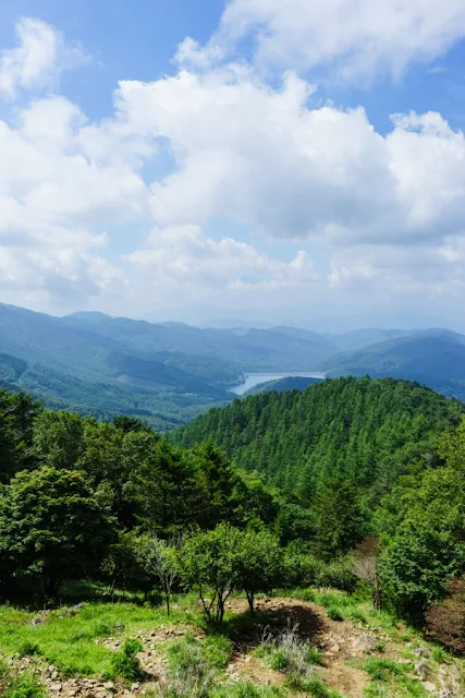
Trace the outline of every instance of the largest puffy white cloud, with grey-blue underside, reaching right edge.
<instances>
[{"instance_id":1,"label":"largest puffy white cloud, with grey-blue underside, reaching right edge","mask_svg":"<svg viewBox=\"0 0 465 698\"><path fill-rule=\"evenodd\" d=\"M162 226L222 216L282 239L401 245L465 227L465 139L437 113L395 116L388 135L362 108L315 106L287 74L271 89L220 71L122 83L127 128L168 140L175 168L152 184Z\"/></svg>"}]
</instances>

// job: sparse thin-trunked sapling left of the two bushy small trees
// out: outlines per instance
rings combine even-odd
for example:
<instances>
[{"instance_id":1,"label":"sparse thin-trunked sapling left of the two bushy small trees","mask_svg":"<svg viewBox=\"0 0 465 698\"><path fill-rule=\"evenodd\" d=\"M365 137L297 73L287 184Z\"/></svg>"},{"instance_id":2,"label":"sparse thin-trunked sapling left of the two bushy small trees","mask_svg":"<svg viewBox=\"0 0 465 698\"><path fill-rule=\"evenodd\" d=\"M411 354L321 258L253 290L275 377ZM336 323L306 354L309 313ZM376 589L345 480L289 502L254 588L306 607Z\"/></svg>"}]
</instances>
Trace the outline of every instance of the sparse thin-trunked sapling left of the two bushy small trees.
<instances>
[{"instance_id":1,"label":"sparse thin-trunked sapling left of the two bushy small trees","mask_svg":"<svg viewBox=\"0 0 465 698\"><path fill-rule=\"evenodd\" d=\"M156 535L142 540L140 555L146 571L155 577L163 590L167 614L170 615L171 593L180 578L180 549L182 535L163 541Z\"/></svg>"}]
</instances>

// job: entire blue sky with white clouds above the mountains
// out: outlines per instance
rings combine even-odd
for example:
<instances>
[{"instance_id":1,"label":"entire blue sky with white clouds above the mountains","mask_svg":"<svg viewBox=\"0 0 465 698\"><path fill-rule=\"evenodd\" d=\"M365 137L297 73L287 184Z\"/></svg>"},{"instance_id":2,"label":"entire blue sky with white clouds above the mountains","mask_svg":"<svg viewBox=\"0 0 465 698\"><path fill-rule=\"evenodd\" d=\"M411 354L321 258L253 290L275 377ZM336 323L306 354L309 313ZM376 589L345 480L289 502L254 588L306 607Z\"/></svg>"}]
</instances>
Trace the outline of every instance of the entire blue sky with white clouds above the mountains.
<instances>
[{"instance_id":1,"label":"entire blue sky with white clouds above the mountains","mask_svg":"<svg viewBox=\"0 0 465 698\"><path fill-rule=\"evenodd\" d=\"M465 329L464 130L464 0L2 0L0 302Z\"/></svg>"}]
</instances>

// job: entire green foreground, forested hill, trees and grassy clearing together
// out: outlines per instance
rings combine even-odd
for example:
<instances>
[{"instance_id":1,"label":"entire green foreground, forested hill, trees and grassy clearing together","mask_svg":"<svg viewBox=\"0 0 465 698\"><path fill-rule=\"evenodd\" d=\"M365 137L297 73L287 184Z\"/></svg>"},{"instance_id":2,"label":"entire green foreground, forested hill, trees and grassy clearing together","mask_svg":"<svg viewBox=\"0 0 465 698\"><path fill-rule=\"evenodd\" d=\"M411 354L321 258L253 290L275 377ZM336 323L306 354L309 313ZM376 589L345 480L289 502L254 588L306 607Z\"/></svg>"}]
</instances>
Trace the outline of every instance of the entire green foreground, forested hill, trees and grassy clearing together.
<instances>
[{"instance_id":1,"label":"entire green foreground, forested hill, trees and grassy clearing together","mask_svg":"<svg viewBox=\"0 0 465 698\"><path fill-rule=\"evenodd\" d=\"M198 690L196 667L225 669L252 639L256 666L286 672L289 690L231 694L220 672L220 698L339 698L321 682L340 649L321 655L310 627L321 649L365 642L346 654L358 662L358 693L348 695L359 698L372 676L367 696L424 696L414 650L404 654L413 631L397 630L400 618L414 622L417 634L465 651L463 416L462 404L413 383L341 378L213 410L175 434L192 446L181 448L135 418L97 421L0 390L0 693L42 698L47 682L63 698L89 686L148 697L155 676L171 682L159 698L217 698L212 676ZM66 607L63 593L79 603ZM113 604L121 593L137 605ZM85 594L100 603L87 606ZM167 645L166 614L182 624L178 645ZM408 666L393 661L394 643ZM435 687L465 685L455 660L435 657ZM186 688L173 693L180 670Z\"/></svg>"}]
</instances>

